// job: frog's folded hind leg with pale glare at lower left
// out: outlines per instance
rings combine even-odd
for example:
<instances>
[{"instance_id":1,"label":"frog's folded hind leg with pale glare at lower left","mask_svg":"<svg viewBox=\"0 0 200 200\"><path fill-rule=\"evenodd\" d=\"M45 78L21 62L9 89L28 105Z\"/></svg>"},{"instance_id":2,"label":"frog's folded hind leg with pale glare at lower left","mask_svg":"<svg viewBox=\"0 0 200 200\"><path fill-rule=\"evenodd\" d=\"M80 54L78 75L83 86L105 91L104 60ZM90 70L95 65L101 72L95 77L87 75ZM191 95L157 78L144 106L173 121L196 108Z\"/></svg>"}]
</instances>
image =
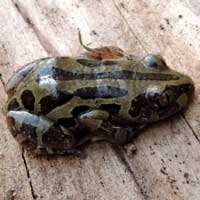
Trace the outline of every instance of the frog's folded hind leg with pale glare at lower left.
<instances>
[{"instance_id":1,"label":"frog's folded hind leg with pale glare at lower left","mask_svg":"<svg viewBox=\"0 0 200 200\"><path fill-rule=\"evenodd\" d=\"M7 122L17 141L37 155L76 153L75 135L44 116L9 111Z\"/></svg>"}]
</instances>

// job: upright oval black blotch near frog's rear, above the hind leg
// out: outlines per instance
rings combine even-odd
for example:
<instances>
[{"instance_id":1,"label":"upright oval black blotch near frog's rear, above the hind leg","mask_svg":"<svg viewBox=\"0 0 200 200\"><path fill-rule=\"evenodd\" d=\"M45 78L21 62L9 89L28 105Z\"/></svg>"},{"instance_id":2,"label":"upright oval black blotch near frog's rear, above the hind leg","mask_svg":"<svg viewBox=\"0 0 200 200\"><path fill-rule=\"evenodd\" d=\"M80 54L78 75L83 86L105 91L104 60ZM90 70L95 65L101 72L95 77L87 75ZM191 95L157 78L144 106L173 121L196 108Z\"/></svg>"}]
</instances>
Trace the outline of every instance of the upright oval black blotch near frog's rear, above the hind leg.
<instances>
[{"instance_id":1,"label":"upright oval black blotch near frog's rear, above the hind leg","mask_svg":"<svg viewBox=\"0 0 200 200\"><path fill-rule=\"evenodd\" d=\"M33 93L30 90L24 90L21 95L21 99L24 108L28 109L29 111L34 110L35 97L33 96Z\"/></svg>"}]
</instances>

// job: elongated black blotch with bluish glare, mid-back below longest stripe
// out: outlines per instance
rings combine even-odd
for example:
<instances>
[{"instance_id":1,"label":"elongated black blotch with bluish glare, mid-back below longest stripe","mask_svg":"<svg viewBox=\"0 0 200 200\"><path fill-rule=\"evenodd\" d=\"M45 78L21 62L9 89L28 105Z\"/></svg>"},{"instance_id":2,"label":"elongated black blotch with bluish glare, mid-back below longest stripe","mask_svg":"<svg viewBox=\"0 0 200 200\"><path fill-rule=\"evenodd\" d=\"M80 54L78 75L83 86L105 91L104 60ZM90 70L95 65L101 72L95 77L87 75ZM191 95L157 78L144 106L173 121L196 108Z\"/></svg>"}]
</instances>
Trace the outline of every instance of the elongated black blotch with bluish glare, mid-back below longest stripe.
<instances>
[{"instance_id":1,"label":"elongated black blotch with bluish glare, mid-back below longest stripe","mask_svg":"<svg viewBox=\"0 0 200 200\"><path fill-rule=\"evenodd\" d=\"M85 87L77 89L74 96L81 97L82 99L95 99L95 98L116 98L123 97L128 94L128 91L123 88L112 86L101 87Z\"/></svg>"}]
</instances>

